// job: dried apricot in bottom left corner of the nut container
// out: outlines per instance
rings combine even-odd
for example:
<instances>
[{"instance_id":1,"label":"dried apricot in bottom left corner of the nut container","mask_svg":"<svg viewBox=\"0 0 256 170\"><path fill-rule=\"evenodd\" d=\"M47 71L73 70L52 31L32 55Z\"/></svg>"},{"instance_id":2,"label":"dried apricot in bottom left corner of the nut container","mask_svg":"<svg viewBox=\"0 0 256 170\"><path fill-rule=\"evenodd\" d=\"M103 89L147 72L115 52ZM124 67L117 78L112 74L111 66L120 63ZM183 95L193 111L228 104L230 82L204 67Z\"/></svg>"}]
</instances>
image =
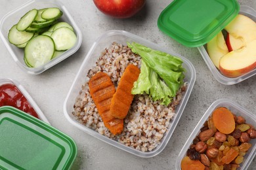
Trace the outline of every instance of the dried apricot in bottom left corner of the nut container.
<instances>
[{"instance_id":1,"label":"dried apricot in bottom left corner of the nut container","mask_svg":"<svg viewBox=\"0 0 256 170\"><path fill-rule=\"evenodd\" d=\"M190 160L188 156L185 156L181 160L181 169L182 170L204 170L205 165L199 160Z\"/></svg>"}]
</instances>

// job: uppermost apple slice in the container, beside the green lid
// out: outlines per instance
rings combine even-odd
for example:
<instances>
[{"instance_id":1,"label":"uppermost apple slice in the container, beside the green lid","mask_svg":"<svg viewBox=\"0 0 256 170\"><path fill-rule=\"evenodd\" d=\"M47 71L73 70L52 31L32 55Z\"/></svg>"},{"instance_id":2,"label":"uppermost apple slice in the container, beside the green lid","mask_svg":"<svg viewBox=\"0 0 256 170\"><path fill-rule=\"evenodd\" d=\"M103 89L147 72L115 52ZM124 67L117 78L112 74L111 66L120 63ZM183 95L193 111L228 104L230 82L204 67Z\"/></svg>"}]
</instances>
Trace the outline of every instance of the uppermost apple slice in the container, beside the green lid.
<instances>
[{"instance_id":1,"label":"uppermost apple slice in the container, beside the green lid","mask_svg":"<svg viewBox=\"0 0 256 170\"><path fill-rule=\"evenodd\" d=\"M247 16L244 16L242 14L238 14L230 24L226 25L224 27L226 31L229 33L229 37L234 37L234 41L238 39L244 41L245 43L253 41L256 39L256 24L251 18L248 18ZM230 39L230 41L232 41ZM237 42L230 42L233 50L234 50L234 45ZM236 46L238 46L236 44ZM243 46L243 45L242 45Z\"/></svg>"}]
</instances>

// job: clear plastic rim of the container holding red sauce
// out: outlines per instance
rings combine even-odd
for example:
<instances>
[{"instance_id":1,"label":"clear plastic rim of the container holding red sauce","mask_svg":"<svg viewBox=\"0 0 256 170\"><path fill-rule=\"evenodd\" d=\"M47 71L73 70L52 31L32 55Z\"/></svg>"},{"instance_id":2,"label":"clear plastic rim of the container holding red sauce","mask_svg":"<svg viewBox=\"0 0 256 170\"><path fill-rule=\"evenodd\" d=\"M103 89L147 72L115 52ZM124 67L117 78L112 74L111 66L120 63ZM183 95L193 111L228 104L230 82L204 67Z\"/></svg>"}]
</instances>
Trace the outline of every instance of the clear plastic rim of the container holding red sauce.
<instances>
[{"instance_id":1,"label":"clear plastic rim of the container holding red sauce","mask_svg":"<svg viewBox=\"0 0 256 170\"><path fill-rule=\"evenodd\" d=\"M44 122L46 122L47 124L49 124L49 121L47 120L47 118L45 117L45 115L43 114L41 109L39 109L39 107L37 106L35 101L33 101L33 99L30 96L30 94L25 90L25 88L21 84L19 84L15 80L12 80L12 79L9 79L9 78L2 78L2 79L0 78L0 86L3 85L3 84L14 84L14 86L16 86L18 88L18 90L20 90L22 95L24 95L24 97L28 100L30 105L33 107L33 109L37 113L38 117L41 120L43 120Z\"/></svg>"}]
</instances>

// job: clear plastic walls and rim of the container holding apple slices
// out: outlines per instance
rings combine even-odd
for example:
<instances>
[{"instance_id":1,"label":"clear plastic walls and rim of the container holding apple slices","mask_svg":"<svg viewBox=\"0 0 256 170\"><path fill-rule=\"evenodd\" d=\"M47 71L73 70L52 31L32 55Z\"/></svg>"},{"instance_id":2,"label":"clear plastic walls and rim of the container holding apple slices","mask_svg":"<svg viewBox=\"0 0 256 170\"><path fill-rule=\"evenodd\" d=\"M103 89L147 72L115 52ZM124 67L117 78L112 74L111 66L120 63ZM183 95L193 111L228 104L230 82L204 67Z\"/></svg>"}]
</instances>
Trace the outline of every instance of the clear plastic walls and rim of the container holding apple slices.
<instances>
[{"instance_id":1,"label":"clear plastic walls and rim of the container holding apple slices","mask_svg":"<svg viewBox=\"0 0 256 170\"><path fill-rule=\"evenodd\" d=\"M245 16L248 16L249 18L251 18L252 20L254 20L256 22L256 10L252 9L251 7L241 6L240 14L244 14ZM200 46L200 47L198 47L198 50L200 51L205 63L209 67L214 78L217 81L221 82L222 84L226 84L226 85L236 84L238 82L242 82L243 80L245 80L253 75L256 75L256 69L253 69L249 73L246 73L244 75L241 75L241 76L238 76L235 78L229 78L227 76L224 76L221 74L219 69L217 69L217 67L215 67L215 65L213 64L213 61L211 61L211 58L209 57L209 55L207 53L206 46Z\"/></svg>"}]
</instances>

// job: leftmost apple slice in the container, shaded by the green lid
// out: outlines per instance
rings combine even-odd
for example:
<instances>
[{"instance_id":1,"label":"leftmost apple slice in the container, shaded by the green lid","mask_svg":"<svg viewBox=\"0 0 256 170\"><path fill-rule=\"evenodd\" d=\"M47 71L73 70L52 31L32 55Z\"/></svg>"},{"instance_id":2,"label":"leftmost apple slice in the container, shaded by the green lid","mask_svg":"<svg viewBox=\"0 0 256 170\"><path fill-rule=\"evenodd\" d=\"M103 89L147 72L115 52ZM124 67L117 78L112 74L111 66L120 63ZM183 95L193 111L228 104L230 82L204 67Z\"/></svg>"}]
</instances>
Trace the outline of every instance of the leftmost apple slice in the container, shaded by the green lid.
<instances>
[{"instance_id":1,"label":"leftmost apple slice in the container, shaded by the green lid","mask_svg":"<svg viewBox=\"0 0 256 170\"><path fill-rule=\"evenodd\" d=\"M207 43L207 52L213 64L219 69L219 61L225 55L228 54L228 47L224 40L222 32L219 32L211 41Z\"/></svg>"}]
</instances>

